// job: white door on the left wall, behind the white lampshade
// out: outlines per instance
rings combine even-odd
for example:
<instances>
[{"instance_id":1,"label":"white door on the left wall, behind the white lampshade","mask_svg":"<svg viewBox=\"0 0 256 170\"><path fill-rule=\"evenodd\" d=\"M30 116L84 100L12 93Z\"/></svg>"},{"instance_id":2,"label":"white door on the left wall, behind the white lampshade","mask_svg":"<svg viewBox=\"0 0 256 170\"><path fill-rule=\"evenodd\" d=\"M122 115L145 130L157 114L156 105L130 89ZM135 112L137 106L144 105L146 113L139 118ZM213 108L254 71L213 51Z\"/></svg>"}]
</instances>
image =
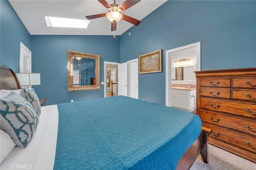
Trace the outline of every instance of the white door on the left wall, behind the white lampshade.
<instances>
[{"instance_id":1,"label":"white door on the left wall, behind the white lampshade","mask_svg":"<svg viewBox=\"0 0 256 170\"><path fill-rule=\"evenodd\" d=\"M20 42L20 73L31 73L31 51Z\"/></svg>"}]
</instances>

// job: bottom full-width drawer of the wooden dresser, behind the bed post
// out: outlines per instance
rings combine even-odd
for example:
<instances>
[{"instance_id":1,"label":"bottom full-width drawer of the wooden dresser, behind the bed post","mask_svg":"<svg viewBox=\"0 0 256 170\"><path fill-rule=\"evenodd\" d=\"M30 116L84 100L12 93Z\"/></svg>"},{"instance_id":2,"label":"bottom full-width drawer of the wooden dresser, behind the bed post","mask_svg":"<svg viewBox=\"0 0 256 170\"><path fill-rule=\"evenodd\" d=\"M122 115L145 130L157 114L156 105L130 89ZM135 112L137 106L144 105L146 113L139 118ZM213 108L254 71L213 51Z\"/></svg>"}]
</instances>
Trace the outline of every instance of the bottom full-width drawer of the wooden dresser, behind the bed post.
<instances>
[{"instance_id":1,"label":"bottom full-width drawer of the wooden dresser, behind the bed post","mask_svg":"<svg viewBox=\"0 0 256 170\"><path fill-rule=\"evenodd\" d=\"M203 126L212 129L212 133L209 135L210 137L256 153L256 138L205 123L203 123Z\"/></svg>"}]
</instances>

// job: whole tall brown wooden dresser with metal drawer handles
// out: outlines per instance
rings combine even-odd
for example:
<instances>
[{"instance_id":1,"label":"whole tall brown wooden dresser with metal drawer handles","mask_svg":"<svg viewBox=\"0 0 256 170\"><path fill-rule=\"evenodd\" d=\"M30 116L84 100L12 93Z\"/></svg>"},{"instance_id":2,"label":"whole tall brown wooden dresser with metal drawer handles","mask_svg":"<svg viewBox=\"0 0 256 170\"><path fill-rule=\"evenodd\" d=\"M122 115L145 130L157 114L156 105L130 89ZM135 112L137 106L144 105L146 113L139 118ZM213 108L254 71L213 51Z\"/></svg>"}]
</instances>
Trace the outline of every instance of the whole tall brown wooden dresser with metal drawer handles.
<instances>
[{"instance_id":1,"label":"whole tall brown wooden dresser with metal drawer handles","mask_svg":"<svg viewBox=\"0 0 256 170\"><path fill-rule=\"evenodd\" d=\"M209 143L256 162L256 68L196 71L196 114Z\"/></svg>"}]
</instances>

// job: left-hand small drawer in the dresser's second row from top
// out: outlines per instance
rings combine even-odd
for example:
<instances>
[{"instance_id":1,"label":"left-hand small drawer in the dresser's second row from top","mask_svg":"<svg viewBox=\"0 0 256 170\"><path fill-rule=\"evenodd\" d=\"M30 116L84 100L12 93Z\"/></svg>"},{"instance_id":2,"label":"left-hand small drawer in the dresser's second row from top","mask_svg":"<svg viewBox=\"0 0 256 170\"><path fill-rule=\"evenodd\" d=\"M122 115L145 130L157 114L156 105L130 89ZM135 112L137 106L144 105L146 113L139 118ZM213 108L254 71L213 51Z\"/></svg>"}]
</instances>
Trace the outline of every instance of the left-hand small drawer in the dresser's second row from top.
<instances>
[{"instance_id":1,"label":"left-hand small drawer in the dresser's second row from top","mask_svg":"<svg viewBox=\"0 0 256 170\"><path fill-rule=\"evenodd\" d=\"M231 98L230 89L214 88L214 87L201 87L200 95L209 97Z\"/></svg>"}]
</instances>

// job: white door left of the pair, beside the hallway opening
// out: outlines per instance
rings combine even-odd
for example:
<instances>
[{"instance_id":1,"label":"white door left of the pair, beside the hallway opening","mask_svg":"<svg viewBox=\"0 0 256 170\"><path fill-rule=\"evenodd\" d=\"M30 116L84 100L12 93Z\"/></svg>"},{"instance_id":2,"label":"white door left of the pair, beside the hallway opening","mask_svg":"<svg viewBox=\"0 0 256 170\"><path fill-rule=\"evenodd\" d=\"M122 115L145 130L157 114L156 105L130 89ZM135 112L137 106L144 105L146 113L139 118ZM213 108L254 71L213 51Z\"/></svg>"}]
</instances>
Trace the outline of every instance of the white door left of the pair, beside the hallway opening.
<instances>
[{"instance_id":1,"label":"white door left of the pair, beside the hallway opening","mask_svg":"<svg viewBox=\"0 0 256 170\"><path fill-rule=\"evenodd\" d=\"M118 95L128 96L127 63L118 64Z\"/></svg>"}]
</instances>

